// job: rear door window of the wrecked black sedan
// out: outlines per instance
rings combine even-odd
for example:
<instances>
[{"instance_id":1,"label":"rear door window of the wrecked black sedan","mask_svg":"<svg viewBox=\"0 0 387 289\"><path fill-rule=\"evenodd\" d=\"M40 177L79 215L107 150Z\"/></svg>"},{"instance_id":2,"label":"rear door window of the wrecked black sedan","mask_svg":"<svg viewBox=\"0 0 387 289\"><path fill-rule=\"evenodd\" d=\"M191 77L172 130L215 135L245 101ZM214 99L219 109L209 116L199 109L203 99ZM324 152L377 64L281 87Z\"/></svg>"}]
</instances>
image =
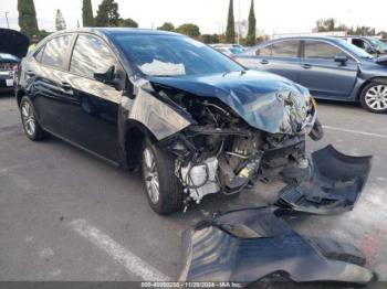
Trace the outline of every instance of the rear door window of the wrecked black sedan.
<instances>
[{"instance_id":1,"label":"rear door window of the wrecked black sedan","mask_svg":"<svg viewBox=\"0 0 387 289\"><path fill-rule=\"evenodd\" d=\"M45 44L42 64L64 68L72 35L63 35L50 40Z\"/></svg>"}]
</instances>

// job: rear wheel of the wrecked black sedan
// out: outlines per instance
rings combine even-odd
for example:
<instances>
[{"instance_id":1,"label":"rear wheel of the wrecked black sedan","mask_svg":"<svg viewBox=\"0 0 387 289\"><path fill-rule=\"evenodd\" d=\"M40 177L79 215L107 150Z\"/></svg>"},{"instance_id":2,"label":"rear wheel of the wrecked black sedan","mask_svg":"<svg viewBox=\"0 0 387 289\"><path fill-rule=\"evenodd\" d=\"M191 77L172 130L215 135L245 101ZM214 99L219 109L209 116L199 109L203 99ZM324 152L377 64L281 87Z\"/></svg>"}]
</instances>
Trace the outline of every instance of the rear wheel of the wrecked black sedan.
<instances>
[{"instance_id":1,"label":"rear wheel of the wrecked black sedan","mask_svg":"<svg viewBox=\"0 0 387 289\"><path fill-rule=\"evenodd\" d=\"M23 96L20 100L20 116L25 136L30 140L40 141L49 137L49 133L39 125L35 110L28 96Z\"/></svg>"}]
</instances>

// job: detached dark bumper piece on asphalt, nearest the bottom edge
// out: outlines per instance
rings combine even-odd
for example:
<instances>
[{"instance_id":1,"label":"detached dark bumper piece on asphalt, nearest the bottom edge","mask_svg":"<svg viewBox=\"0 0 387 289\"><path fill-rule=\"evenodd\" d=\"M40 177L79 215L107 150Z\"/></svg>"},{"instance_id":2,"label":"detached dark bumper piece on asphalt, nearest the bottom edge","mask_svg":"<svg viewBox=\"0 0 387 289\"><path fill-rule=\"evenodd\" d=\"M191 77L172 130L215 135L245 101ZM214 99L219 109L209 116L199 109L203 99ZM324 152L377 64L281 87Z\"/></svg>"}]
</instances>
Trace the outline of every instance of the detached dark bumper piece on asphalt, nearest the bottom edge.
<instances>
[{"instance_id":1,"label":"detached dark bumper piece on asphalt, nearest the bottom edge","mask_svg":"<svg viewBox=\"0 0 387 289\"><path fill-rule=\"evenodd\" d=\"M232 211L186 231L180 281L366 285L374 279L355 247L304 238L279 217L282 213L274 207Z\"/></svg>"}]
</instances>

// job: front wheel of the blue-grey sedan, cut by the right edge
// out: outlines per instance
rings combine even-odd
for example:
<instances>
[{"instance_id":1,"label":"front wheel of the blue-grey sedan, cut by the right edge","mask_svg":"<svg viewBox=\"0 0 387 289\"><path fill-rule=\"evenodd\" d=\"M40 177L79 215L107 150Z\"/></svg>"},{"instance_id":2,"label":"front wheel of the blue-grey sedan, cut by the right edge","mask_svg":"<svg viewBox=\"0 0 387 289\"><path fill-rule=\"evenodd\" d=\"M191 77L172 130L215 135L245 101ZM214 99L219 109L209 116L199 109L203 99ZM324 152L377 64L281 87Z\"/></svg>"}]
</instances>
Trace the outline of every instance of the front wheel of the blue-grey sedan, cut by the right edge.
<instances>
[{"instance_id":1,"label":"front wheel of the blue-grey sedan, cut by the right edge","mask_svg":"<svg viewBox=\"0 0 387 289\"><path fill-rule=\"evenodd\" d=\"M367 84L360 95L362 106L374 114L387 113L387 81L379 79Z\"/></svg>"}]
</instances>

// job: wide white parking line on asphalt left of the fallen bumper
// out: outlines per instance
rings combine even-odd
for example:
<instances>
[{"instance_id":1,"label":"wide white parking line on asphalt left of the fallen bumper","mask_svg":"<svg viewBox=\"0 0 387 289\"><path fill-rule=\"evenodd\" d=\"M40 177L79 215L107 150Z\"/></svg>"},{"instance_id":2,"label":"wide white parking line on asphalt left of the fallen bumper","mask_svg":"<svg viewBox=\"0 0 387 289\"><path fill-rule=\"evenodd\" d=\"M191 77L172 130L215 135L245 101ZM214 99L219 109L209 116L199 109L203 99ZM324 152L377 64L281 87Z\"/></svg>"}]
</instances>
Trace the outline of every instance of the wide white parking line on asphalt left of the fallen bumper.
<instances>
[{"instance_id":1,"label":"wide white parking line on asphalt left of the fallen bumper","mask_svg":"<svg viewBox=\"0 0 387 289\"><path fill-rule=\"evenodd\" d=\"M86 238L100 249L107 253L113 259L123 265L127 272L134 274L146 281L168 281L170 278L138 256L124 248L98 228L90 225L85 220L71 222L70 227Z\"/></svg>"}]
</instances>

